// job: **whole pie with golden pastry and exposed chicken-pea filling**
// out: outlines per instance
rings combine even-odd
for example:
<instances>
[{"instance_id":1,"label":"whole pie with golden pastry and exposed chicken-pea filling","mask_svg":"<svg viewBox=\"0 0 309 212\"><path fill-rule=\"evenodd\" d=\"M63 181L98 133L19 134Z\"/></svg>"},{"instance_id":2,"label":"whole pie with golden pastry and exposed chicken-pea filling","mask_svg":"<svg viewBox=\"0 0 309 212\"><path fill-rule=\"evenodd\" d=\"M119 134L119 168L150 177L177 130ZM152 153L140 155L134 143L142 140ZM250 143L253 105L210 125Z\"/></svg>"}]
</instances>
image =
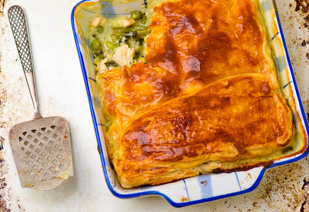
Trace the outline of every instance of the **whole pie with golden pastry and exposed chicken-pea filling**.
<instances>
[{"instance_id":1,"label":"whole pie with golden pastry and exposed chicken-pea filling","mask_svg":"<svg viewBox=\"0 0 309 212\"><path fill-rule=\"evenodd\" d=\"M268 165L293 148L257 1L157 1L94 18L89 32L108 156L124 188Z\"/></svg>"}]
</instances>

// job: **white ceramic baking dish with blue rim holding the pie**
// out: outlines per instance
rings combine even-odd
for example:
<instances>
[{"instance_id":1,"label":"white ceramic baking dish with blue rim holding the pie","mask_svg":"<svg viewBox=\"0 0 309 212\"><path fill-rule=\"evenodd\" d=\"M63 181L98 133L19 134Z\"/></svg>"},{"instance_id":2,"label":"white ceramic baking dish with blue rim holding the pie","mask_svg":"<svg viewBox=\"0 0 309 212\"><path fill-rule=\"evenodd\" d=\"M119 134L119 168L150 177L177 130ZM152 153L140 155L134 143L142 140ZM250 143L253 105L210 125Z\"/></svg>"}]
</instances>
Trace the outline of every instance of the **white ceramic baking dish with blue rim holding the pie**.
<instances>
[{"instance_id":1,"label":"white ceramic baking dish with blue rim holding the pie","mask_svg":"<svg viewBox=\"0 0 309 212\"><path fill-rule=\"evenodd\" d=\"M290 102L294 117L294 124L298 130L298 139L302 139L308 132L308 123L305 119L305 112L301 105L300 95L293 75L291 61L283 38L283 33L276 12L276 5L272 1L260 1L260 8L267 26L269 42L272 47L272 54L276 59L279 69L279 82L284 95ZM108 188L111 192L122 198L137 197L144 195L163 196L173 206L187 206L215 199L234 196L250 192L257 187L261 181L266 167L255 167L245 172L231 172L212 175L199 175L176 182L158 186L137 187L135 189L123 189L116 180L116 173L108 162L108 155L101 130L103 116L99 105L96 81L94 76L94 65L91 61L89 41L86 39L89 20L102 13L105 17L123 16L130 11L140 10L147 6L146 1L128 1L126 4L119 4L116 1L81 1L72 11L72 28L77 43L77 51L82 66L82 73L86 91L89 97L89 105L94 121L97 142L99 146L103 172L106 177ZM307 143L307 141L305 141ZM307 149L307 148L306 148ZM293 155L282 160L275 161L270 167L292 163L308 155L308 151L302 154Z\"/></svg>"}]
</instances>

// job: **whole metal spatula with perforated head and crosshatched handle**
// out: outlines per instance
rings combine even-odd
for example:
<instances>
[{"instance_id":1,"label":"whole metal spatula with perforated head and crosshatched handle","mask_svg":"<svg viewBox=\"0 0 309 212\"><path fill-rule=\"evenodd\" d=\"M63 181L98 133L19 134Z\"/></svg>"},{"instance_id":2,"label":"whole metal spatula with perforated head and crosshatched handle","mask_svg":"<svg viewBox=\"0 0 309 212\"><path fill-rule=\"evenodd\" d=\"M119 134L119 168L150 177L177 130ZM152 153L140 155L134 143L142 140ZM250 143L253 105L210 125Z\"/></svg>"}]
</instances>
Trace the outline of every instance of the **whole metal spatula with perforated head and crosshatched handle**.
<instances>
[{"instance_id":1,"label":"whole metal spatula with perforated head and crosshatched handle","mask_svg":"<svg viewBox=\"0 0 309 212\"><path fill-rule=\"evenodd\" d=\"M22 187L47 190L73 176L69 124L62 117L43 118L38 107L26 13L9 8L9 21L35 109L32 121L16 124L9 141Z\"/></svg>"}]
</instances>

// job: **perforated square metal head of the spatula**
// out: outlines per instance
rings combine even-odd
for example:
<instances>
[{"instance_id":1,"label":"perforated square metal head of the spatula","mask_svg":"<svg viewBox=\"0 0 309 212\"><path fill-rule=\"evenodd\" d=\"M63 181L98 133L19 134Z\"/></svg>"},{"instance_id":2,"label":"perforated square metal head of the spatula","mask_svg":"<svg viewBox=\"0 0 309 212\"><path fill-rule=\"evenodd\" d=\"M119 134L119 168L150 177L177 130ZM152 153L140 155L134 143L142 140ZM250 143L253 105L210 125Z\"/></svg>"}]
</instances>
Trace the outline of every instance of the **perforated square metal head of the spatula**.
<instances>
[{"instance_id":1,"label":"perforated square metal head of the spatula","mask_svg":"<svg viewBox=\"0 0 309 212\"><path fill-rule=\"evenodd\" d=\"M22 187L52 189L74 175L69 123L64 118L16 124L9 141Z\"/></svg>"}]
</instances>

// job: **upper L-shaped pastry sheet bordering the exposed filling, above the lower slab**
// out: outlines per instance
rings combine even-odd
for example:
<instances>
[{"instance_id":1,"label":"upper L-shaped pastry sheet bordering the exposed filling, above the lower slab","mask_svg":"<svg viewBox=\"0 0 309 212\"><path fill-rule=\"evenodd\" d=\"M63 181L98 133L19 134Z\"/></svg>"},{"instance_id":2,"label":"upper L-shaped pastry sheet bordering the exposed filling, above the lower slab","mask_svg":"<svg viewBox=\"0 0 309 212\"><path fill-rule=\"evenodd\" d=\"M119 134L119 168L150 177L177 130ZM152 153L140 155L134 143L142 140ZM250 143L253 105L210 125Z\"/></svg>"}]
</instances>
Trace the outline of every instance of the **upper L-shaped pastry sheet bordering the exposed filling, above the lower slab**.
<instances>
[{"instance_id":1,"label":"upper L-shaped pastry sheet bordering the exposed filling, above the lower slab","mask_svg":"<svg viewBox=\"0 0 309 212\"><path fill-rule=\"evenodd\" d=\"M154 8L146 39L148 64L103 73L111 114L126 119L226 76L276 77L252 1L215 2L167 1Z\"/></svg>"}]
</instances>

